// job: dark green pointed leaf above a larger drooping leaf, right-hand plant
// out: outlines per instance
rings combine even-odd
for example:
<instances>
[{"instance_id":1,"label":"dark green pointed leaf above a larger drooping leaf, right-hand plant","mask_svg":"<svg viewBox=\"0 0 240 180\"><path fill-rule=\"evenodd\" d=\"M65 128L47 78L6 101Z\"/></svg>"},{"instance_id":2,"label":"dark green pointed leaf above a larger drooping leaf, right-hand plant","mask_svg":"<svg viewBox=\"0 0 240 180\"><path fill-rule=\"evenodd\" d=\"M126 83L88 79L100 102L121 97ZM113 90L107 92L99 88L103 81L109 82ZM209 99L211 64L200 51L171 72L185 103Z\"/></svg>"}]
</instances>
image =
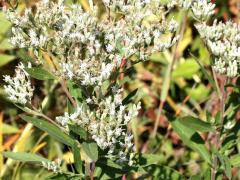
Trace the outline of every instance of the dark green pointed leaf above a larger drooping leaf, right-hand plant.
<instances>
[{"instance_id":1,"label":"dark green pointed leaf above a larger drooping leaf, right-hand plant","mask_svg":"<svg viewBox=\"0 0 240 180\"><path fill-rule=\"evenodd\" d=\"M214 132L215 129L212 127L210 123L204 122L198 118L194 118L191 116L179 118L182 124L185 126L192 128L195 131L200 132Z\"/></svg>"}]
</instances>

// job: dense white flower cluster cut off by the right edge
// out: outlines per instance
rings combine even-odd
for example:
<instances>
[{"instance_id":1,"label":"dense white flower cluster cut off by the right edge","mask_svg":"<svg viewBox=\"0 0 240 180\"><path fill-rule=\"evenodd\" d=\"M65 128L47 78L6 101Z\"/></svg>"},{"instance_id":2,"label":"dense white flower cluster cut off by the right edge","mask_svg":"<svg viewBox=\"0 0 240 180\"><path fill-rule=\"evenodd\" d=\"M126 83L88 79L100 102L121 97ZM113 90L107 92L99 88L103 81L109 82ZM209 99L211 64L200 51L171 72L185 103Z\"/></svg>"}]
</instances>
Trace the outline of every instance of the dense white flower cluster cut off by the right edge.
<instances>
[{"instance_id":1,"label":"dense white flower cluster cut off by the right edge","mask_svg":"<svg viewBox=\"0 0 240 180\"><path fill-rule=\"evenodd\" d=\"M215 57L214 70L228 77L236 77L240 62L240 26L231 21L214 21L211 26L201 23L196 27Z\"/></svg>"}]
</instances>

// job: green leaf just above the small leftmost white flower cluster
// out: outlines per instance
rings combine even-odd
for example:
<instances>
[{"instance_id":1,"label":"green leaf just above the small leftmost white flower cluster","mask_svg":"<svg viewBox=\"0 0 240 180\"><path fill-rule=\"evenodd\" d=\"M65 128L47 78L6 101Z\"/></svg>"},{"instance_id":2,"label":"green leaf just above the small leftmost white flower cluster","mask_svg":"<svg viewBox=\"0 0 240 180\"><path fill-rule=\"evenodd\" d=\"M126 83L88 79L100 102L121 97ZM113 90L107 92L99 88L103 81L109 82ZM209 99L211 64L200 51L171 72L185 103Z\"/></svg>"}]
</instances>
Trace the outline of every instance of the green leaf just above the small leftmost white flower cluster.
<instances>
[{"instance_id":1,"label":"green leaf just above the small leftmost white flower cluster","mask_svg":"<svg viewBox=\"0 0 240 180\"><path fill-rule=\"evenodd\" d=\"M39 67L34 67L34 68L25 68L27 73L32 76L35 79L38 80L52 80L55 79L55 77L48 72L47 70Z\"/></svg>"}]
</instances>

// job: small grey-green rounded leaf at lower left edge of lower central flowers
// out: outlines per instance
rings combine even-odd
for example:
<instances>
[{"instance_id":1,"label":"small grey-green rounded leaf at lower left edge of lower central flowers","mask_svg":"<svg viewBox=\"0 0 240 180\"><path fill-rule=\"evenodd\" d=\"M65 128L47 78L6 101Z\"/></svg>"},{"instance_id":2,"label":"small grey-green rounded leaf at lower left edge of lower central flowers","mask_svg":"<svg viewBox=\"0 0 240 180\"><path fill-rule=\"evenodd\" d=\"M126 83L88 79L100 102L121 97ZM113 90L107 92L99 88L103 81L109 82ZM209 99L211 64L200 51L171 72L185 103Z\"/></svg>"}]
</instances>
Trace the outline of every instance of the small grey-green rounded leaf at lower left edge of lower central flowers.
<instances>
[{"instance_id":1,"label":"small grey-green rounded leaf at lower left edge of lower central flowers","mask_svg":"<svg viewBox=\"0 0 240 180\"><path fill-rule=\"evenodd\" d=\"M96 143L82 143L82 148L86 155L94 162L98 160L98 146Z\"/></svg>"}]
</instances>

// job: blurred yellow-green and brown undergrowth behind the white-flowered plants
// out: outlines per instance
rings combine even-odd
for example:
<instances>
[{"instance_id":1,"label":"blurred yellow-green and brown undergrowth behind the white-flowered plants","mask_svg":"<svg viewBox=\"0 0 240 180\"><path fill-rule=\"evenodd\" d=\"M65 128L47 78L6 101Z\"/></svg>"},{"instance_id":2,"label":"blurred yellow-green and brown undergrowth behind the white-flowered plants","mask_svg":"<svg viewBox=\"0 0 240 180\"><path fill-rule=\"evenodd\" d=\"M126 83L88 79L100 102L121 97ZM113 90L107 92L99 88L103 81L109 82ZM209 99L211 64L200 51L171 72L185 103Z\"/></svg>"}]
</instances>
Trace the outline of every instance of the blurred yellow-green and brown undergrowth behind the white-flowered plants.
<instances>
[{"instance_id":1,"label":"blurred yellow-green and brown undergrowth behind the white-flowered plants","mask_svg":"<svg viewBox=\"0 0 240 180\"><path fill-rule=\"evenodd\" d=\"M21 0L19 9L21 11L34 3L36 1ZM84 0L80 3L87 6ZM226 21L232 18L235 22L240 22L240 0L216 0L215 3L217 4L215 16L218 19ZM1 1L0 6L4 5L7 3ZM154 54L148 61L135 65L123 81L126 83L126 94L138 88L137 99L143 104L139 118L134 120L131 126L138 151L158 154L159 164L170 166L186 176L191 176L204 170L206 164L200 161L196 152L181 143L177 134L169 126L166 117L161 116L159 119L156 138L150 137L154 123L158 119L160 94L164 86L163 77L173 54L176 55L177 61L174 65L164 111L178 116L192 115L205 119L206 112L215 116L219 110L216 94L189 53L194 54L210 71L210 55L193 26L193 19L186 18L191 17L186 12L176 11L169 14L168 18L172 16L179 23L185 24L183 38L178 48ZM46 133L23 122L19 118L21 110L13 106L6 98L2 76L13 75L15 66L20 60L31 58L31 52L15 49L8 43L11 36L10 27L11 24L0 12L0 152L5 150L28 151L40 153L51 160L63 157L67 165L72 162L69 150ZM34 103L39 104L47 97L45 113L51 117L63 113L62 110L66 107L66 97L61 88L58 85L52 87L51 82L34 80L33 83L36 87ZM6 180L28 180L44 179L48 172L39 166L6 160L0 154L0 174L2 179ZM234 174L238 179L239 169L236 169Z\"/></svg>"}]
</instances>

